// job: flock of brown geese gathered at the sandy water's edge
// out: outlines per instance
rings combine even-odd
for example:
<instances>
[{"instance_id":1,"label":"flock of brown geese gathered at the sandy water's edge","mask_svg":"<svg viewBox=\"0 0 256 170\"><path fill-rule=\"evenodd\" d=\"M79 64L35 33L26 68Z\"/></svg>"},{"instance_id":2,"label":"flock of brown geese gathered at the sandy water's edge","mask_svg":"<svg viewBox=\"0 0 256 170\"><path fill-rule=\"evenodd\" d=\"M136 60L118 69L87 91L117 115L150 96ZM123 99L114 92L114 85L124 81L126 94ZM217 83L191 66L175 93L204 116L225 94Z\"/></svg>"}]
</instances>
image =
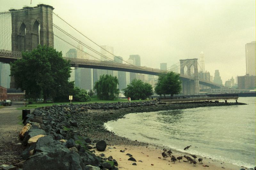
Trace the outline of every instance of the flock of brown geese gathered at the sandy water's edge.
<instances>
[{"instance_id":1,"label":"flock of brown geese gathered at the sandy water's edge","mask_svg":"<svg viewBox=\"0 0 256 170\"><path fill-rule=\"evenodd\" d=\"M191 145L190 145L191 146ZM190 146L187 146L186 148L188 149ZM185 150L185 149L184 149ZM194 166L196 166L196 164L197 164L197 162L196 162L196 155L191 155L194 159L192 159L192 158L190 158L189 156L186 156L186 155L184 155L184 156L179 156L179 157L177 157L177 158L175 158L175 156L173 156L173 155L171 155L172 154L172 151L171 150L169 150L169 151L167 151L167 149L163 149L163 153L162 153L162 156L164 157L164 159L166 159L167 157L171 157L171 161L172 162L174 162L175 163L175 161L177 161L177 160L179 160L179 162L180 162L180 160L184 157L184 158L186 158L187 159L187 161L188 162L190 162L190 163L193 163L193 165ZM168 155L169 156L168 156ZM198 161L199 161L199 163L200 164L203 164L203 158L198 158Z\"/></svg>"}]
</instances>

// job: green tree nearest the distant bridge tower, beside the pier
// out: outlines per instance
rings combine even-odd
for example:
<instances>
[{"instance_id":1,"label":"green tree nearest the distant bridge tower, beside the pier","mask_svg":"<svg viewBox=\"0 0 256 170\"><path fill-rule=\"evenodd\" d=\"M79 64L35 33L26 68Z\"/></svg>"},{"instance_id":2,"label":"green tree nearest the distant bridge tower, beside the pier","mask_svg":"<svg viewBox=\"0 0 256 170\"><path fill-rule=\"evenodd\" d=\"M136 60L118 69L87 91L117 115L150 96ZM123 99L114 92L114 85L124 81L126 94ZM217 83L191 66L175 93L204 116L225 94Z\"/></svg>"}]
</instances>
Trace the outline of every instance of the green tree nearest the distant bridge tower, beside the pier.
<instances>
[{"instance_id":1,"label":"green tree nearest the distant bridge tower, beside the pier","mask_svg":"<svg viewBox=\"0 0 256 170\"><path fill-rule=\"evenodd\" d=\"M181 91L181 81L180 74L177 74L173 71L162 73L158 77L156 83L155 92L159 95L170 94L179 94Z\"/></svg>"}]
</instances>

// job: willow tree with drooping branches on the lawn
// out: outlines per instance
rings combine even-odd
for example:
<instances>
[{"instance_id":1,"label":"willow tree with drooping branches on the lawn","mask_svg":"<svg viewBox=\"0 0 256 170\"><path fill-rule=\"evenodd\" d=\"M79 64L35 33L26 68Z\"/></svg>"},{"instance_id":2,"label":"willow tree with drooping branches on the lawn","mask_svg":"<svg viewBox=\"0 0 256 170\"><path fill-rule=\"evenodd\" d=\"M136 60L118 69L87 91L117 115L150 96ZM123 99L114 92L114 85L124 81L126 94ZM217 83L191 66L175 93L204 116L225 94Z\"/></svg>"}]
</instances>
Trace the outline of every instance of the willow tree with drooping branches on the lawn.
<instances>
[{"instance_id":1,"label":"willow tree with drooping branches on the lawn","mask_svg":"<svg viewBox=\"0 0 256 170\"><path fill-rule=\"evenodd\" d=\"M100 76L93 89L96 90L97 96L101 100L114 100L119 94L118 84L116 77L107 74Z\"/></svg>"}]
</instances>

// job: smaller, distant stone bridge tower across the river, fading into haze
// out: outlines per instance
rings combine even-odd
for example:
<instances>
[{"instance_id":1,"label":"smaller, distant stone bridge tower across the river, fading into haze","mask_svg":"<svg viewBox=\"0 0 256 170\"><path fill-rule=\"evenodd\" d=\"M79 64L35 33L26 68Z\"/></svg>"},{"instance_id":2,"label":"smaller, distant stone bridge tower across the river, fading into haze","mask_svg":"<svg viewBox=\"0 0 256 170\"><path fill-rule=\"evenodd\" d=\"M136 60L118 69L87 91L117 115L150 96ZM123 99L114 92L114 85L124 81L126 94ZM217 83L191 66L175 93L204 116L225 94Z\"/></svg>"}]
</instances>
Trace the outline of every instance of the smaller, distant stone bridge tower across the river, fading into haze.
<instances>
[{"instance_id":1,"label":"smaller, distant stone bridge tower across the river, fading into haze","mask_svg":"<svg viewBox=\"0 0 256 170\"><path fill-rule=\"evenodd\" d=\"M184 68L187 68L186 74L184 73ZM193 75L192 75L192 72ZM185 95L199 94L199 80L198 80L198 67L197 58L180 60L180 75L187 75L189 77L193 76L194 80L184 78L182 79L182 92Z\"/></svg>"}]
</instances>

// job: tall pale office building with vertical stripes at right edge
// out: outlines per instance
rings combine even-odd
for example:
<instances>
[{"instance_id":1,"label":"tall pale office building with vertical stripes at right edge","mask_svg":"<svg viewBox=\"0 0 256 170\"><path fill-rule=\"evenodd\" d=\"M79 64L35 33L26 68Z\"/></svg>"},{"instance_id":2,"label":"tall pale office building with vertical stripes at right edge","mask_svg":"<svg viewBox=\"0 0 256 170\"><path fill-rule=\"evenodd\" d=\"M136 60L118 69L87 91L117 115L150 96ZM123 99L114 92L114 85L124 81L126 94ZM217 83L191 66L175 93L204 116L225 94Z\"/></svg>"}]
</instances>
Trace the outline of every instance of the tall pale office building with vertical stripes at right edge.
<instances>
[{"instance_id":1,"label":"tall pale office building with vertical stripes at right edge","mask_svg":"<svg viewBox=\"0 0 256 170\"><path fill-rule=\"evenodd\" d=\"M255 76L255 42L245 44L246 74Z\"/></svg>"}]
</instances>

